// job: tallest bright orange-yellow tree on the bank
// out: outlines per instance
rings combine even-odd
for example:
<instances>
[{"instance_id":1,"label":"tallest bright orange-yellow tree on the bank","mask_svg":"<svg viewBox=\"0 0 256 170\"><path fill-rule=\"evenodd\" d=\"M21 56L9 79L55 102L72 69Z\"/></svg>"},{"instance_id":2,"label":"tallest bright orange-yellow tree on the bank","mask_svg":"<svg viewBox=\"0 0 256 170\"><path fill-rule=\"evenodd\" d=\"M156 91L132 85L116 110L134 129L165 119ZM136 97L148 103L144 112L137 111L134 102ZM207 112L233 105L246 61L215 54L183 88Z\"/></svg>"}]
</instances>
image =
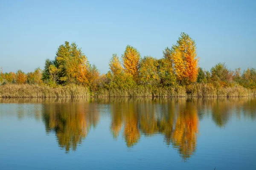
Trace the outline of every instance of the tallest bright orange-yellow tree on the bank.
<instances>
[{"instance_id":1,"label":"tallest bright orange-yellow tree on the bank","mask_svg":"<svg viewBox=\"0 0 256 170\"><path fill-rule=\"evenodd\" d=\"M198 77L198 57L195 41L188 34L181 33L176 45L172 46L172 61L177 79L189 84Z\"/></svg>"}]
</instances>

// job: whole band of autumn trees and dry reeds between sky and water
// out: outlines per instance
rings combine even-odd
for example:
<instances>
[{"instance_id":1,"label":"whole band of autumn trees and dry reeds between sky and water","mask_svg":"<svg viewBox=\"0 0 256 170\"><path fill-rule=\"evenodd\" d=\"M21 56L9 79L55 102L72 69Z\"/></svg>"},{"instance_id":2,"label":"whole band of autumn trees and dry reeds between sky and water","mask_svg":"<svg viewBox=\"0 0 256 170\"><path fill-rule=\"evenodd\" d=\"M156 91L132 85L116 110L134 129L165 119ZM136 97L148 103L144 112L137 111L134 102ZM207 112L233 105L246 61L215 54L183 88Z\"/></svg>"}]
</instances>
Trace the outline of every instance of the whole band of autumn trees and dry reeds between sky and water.
<instances>
[{"instance_id":1,"label":"whole band of autumn trees and dry reeds between sky and water","mask_svg":"<svg viewBox=\"0 0 256 170\"><path fill-rule=\"evenodd\" d=\"M100 75L76 43L65 42L54 60L46 59L44 70L1 73L0 96L249 96L256 89L254 68L242 74L225 63L210 71L199 68L195 41L185 33L161 59L141 57L127 45L121 59L113 54L109 68Z\"/></svg>"}]
</instances>

